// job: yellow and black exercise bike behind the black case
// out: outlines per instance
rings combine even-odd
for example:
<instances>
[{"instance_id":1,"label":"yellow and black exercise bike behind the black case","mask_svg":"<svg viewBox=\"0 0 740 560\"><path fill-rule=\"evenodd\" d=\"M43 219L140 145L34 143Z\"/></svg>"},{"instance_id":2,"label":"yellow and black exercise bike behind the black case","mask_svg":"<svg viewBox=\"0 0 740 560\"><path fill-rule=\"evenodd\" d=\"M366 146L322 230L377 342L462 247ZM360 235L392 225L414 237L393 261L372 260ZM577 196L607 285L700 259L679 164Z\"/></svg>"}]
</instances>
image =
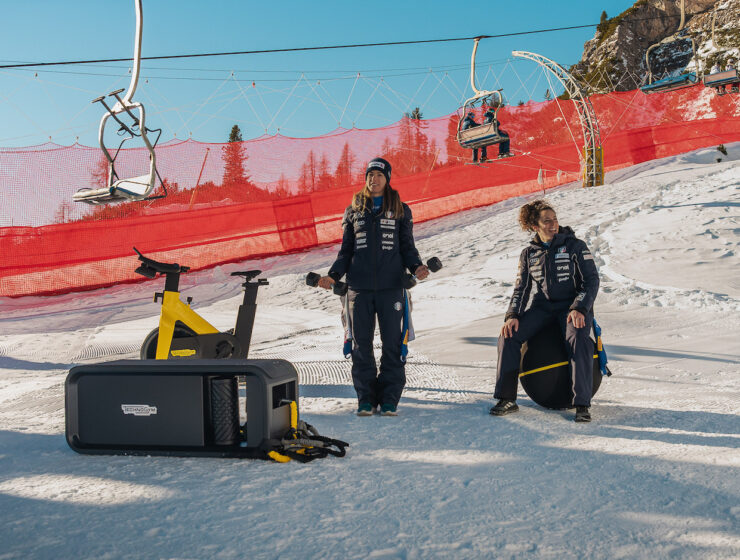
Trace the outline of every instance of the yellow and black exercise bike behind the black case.
<instances>
[{"instance_id":1,"label":"yellow and black exercise bike behind the black case","mask_svg":"<svg viewBox=\"0 0 740 560\"><path fill-rule=\"evenodd\" d=\"M157 274L165 276L164 291L154 294L155 302L162 301L159 327L144 339L142 359L247 358L257 311L257 290L269 284L264 278L253 281L261 274L260 270L231 273L244 278L244 300L239 306L236 326L221 332L190 307L193 298L188 297L184 302L180 299L180 274L190 267L157 262L142 255L136 247L134 251L141 261L137 274L147 278L155 278Z\"/></svg>"}]
</instances>

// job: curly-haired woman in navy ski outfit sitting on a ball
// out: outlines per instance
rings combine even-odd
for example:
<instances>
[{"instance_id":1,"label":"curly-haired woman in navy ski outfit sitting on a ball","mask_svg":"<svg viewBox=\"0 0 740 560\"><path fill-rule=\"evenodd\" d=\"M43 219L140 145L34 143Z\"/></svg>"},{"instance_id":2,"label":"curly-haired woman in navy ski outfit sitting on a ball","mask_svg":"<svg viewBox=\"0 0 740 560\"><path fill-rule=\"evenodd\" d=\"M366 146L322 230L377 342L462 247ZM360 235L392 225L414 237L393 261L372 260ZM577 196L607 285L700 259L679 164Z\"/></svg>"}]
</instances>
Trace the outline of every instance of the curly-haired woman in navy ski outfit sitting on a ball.
<instances>
[{"instance_id":1,"label":"curly-haired woman in navy ski outfit sitting on a ball","mask_svg":"<svg viewBox=\"0 0 740 560\"><path fill-rule=\"evenodd\" d=\"M551 321L557 321L570 359L575 421L590 422L594 344L589 335L599 291L594 258L572 229L558 225L555 210L544 200L522 206L519 224L535 236L519 257L514 295L498 339L493 397L499 401L491 414L502 416L519 410L516 392L522 344ZM537 291L526 309L532 286Z\"/></svg>"}]
</instances>

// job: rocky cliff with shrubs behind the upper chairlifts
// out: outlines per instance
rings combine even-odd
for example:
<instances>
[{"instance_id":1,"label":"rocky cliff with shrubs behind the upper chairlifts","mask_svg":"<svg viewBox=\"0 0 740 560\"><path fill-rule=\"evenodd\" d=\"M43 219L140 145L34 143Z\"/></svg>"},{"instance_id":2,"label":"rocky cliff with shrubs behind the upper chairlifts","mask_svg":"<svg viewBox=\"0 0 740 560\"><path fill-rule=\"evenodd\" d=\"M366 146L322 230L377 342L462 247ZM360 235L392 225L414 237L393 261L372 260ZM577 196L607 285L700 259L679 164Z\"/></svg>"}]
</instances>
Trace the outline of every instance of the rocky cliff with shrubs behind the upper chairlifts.
<instances>
[{"instance_id":1,"label":"rocky cliff with shrubs behind the upper chairlifts","mask_svg":"<svg viewBox=\"0 0 740 560\"><path fill-rule=\"evenodd\" d=\"M724 68L727 60L738 59L740 0L685 0L684 12L684 32L678 36L681 0L638 0L618 16L602 21L571 73L589 93L634 89L646 80L646 51L668 38L650 53L654 79L696 71L697 66L701 75L715 62Z\"/></svg>"}]
</instances>

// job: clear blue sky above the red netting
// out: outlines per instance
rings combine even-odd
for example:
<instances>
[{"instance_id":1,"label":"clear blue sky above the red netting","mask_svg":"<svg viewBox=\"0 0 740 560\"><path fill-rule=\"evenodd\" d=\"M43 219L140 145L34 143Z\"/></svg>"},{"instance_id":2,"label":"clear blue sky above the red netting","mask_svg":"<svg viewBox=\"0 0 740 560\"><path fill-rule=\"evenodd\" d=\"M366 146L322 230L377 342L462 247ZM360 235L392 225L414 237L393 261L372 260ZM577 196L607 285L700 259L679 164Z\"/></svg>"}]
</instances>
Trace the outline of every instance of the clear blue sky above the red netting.
<instances>
[{"instance_id":1,"label":"clear blue sky above the red netting","mask_svg":"<svg viewBox=\"0 0 740 560\"><path fill-rule=\"evenodd\" d=\"M467 3L442 1L252 2L144 0L143 55L243 51L494 35L596 23L630 0ZM132 0L0 0L0 60L45 62L133 54ZM567 66L594 28L487 39L478 50L479 87L504 87L509 103L541 100L547 76L512 50ZM143 61L134 99L150 127L173 137L226 140L279 132L316 136L374 128L421 107L448 114L470 94L472 41L425 45ZM129 83L126 63L0 70L0 146L52 140L97 143L102 110L90 100ZM431 71L430 71L431 69ZM360 77L357 77L357 73ZM303 76L303 77L302 77ZM382 77L382 80L381 80ZM254 82L254 87L252 86Z\"/></svg>"}]
</instances>

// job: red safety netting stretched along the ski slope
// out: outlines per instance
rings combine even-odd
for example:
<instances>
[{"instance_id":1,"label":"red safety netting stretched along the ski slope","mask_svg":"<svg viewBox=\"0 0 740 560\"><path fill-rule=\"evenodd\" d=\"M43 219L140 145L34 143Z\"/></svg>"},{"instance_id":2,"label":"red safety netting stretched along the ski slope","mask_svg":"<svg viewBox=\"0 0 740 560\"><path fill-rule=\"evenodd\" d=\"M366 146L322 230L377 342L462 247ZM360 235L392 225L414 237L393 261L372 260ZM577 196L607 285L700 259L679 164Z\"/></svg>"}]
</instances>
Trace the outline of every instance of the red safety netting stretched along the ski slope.
<instances>
[{"instance_id":1,"label":"red safety netting stretched along the ski slope","mask_svg":"<svg viewBox=\"0 0 740 560\"><path fill-rule=\"evenodd\" d=\"M740 140L737 96L701 85L591 102L607 171ZM106 184L99 148L0 149L0 296L141 279L134 245L199 269L336 242L342 213L376 156L391 162L392 184L417 222L580 180L582 132L572 102L504 107L498 116L516 157L486 166L464 165L471 155L456 142L457 114L316 138L171 141L157 147L166 198L97 207L72 202L72 194ZM489 147L489 157L496 154ZM148 154L122 150L116 165L120 177L140 175Z\"/></svg>"}]
</instances>

